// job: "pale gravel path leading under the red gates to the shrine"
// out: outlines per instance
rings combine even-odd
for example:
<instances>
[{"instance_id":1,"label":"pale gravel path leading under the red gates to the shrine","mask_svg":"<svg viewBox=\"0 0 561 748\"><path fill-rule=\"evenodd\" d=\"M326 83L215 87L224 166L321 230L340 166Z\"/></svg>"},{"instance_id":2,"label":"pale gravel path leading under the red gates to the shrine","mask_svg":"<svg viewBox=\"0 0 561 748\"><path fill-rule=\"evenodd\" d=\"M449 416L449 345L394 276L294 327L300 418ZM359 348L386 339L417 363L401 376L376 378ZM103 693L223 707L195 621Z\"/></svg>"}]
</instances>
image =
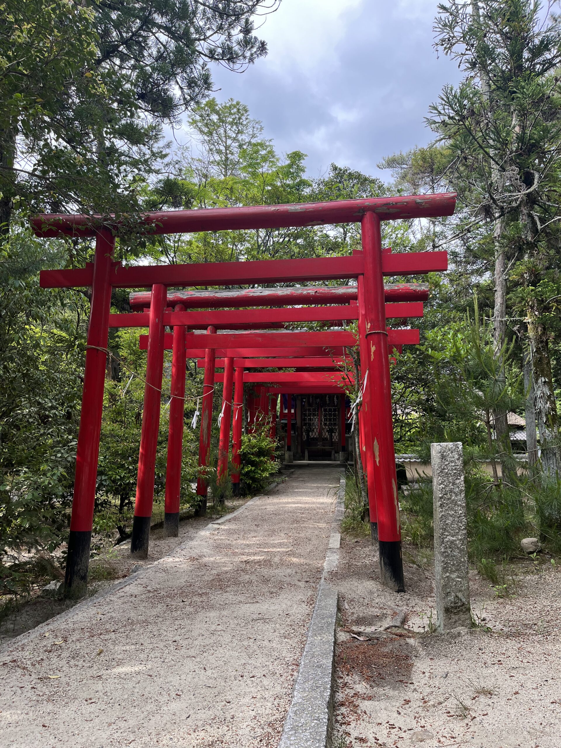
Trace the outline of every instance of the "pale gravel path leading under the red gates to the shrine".
<instances>
[{"instance_id":1,"label":"pale gravel path leading under the red gates to the shrine","mask_svg":"<svg viewBox=\"0 0 561 748\"><path fill-rule=\"evenodd\" d=\"M0 651L2 747L275 747L340 471L306 466Z\"/></svg>"}]
</instances>

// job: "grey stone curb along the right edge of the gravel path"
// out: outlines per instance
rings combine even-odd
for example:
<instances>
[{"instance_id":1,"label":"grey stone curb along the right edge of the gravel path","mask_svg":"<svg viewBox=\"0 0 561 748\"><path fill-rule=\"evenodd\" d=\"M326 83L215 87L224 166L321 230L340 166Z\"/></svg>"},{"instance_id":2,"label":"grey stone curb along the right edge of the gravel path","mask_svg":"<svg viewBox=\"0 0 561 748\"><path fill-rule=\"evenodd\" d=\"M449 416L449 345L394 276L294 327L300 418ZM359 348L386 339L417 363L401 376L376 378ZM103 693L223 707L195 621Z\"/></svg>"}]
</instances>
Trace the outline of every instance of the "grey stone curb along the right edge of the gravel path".
<instances>
[{"instance_id":1,"label":"grey stone curb along the right edge of the gravel path","mask_svg":"<svg viewBox=\"0 0 561 748\"><path fill-rule=\"evenodd\" d=\"M339 561L345 486L343 471L316 607L278 748L328 748L331 745L338 595L337 589L327 581L327 576L337 568Z\"/></svg>"}]
</instances>

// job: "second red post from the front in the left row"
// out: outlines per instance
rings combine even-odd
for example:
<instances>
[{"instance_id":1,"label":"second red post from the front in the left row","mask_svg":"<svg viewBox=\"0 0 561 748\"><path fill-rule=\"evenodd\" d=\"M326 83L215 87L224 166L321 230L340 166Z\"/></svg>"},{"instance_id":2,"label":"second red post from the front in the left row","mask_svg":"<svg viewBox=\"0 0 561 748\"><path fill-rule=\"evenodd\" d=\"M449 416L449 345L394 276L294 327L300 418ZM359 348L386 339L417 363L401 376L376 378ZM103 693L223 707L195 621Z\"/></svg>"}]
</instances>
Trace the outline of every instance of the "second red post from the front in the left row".
<instances>
[{"instance_id":1,"label":"second red post from the front in the left row","mask_svg":"<svg viewBox=\"0 0 561 748\"><path fill-rule=\"evenodd\" d=\"M164 369L164 325L166 287L162 283L152 286L150 323L148 325L148 353L146 384L144 384L144 408L140 454L138 456L138 478L136 481L135 517L132 520L130 552L138 558L148 555L150 542L150 520L154 501L154 471L162 403L162 372Z\"/></svg>"}]
</instances>

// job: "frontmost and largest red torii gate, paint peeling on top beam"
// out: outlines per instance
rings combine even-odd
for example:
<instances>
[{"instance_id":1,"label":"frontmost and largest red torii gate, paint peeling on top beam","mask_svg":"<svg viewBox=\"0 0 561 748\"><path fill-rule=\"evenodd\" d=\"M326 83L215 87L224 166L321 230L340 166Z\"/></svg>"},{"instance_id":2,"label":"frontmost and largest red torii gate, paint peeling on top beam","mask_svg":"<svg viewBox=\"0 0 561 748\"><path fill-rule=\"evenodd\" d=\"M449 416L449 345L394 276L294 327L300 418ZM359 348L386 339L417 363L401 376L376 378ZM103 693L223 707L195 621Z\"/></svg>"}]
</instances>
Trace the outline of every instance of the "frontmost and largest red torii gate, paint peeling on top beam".
<instances>
[{"instance_id":1,"label":"frontmost and largest red torii gate, paint peeling on top beam","mask_svg":"<svg viewBox=\"0 0 561 748\"><path fill-rule=\"evenodd\" d=\"M359 338L361 363L364 364L364 376L367 378L367 387L365 387L368 396L365 400L367 410L370 406L367 421L375 453L375 504L378 505L381 580L393 589L403 589L383 277L384 275L416 275L420 272L446 268L442 257L445 253L417 253L417 257L415 254L382 256L380 221L451 215L455 204L455 194L438 194L340 200L331 203L301 205L156 212L144 215L142 220L146 225L146 233L153 235L361 222L364 254L356 254L353 257L330 257L322 260L263 260L251 263L203 263L184 266L126 268L121 263L114 263L112 260L114 233L117 233L120 228L119 221L103 223L100 218L85 215L42 215L31 221L38 236L66 234L67 236L96 237L96 251L92 265L84 269L46 271L41 274L43 287L91 286L92 288L65 577L67 593L85 586L88 576L112 287L152 286L149 328L150 343L153 342L153 346L149 345L148 356L157 360L161 359L159 354L163 345L162 317L165 310L166 286L271 283L278 281L279 278L282 278L283 282L358 279L359 306L362 295L365 310L364 335L359 329ZM420 257L421 255L423 257ZM427 262L429 258L432 263ZM159 417L159 402L155 402L155 397L156 388L147 381L143 437L154 428L156 414ZM141 441L144 444L150 440L142 438ZM152 454L150 450L144 456L141 454L137 491L138 506L147 503L146 497L153 496L153 482L151 486L148 485L148 479L150 478L150 465L154 459L155 452ZM144 470L142 474L141 468ZM138 535L142 536L149 532L150 517L138 515L138 517L135 516L135 521L137 519L140 520L137 523Z\"/></svg>"}]
</instances>

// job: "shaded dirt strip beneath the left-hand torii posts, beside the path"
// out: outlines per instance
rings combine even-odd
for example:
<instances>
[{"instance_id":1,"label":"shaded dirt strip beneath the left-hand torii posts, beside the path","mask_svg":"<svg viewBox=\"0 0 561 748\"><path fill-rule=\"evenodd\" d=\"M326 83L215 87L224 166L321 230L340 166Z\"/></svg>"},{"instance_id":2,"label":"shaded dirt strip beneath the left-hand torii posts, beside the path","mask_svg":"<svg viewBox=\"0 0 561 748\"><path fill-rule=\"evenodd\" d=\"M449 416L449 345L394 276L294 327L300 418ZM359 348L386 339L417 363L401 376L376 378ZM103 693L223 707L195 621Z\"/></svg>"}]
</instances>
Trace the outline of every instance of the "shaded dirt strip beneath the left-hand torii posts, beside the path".
<instances>
[{"instance_id":1,"label":"shaded dirt strip beneath the left-hand torii posts, beside the path","mask_svg":"<svg viewBox=\"0 0 561 748\"><path fill-rule=\"evenodd\" d=\"M234 512L247 501L247 499L229 499L224 506L222 514ZM189 517L180 521L180 534L177 538L165 538L161 521L155 521L150 530L150 548L148 558L145 560L132 559L130 556L130 541L112 547L111 545L99 556L90 562L90 581L88 584L88 595L95 595L99 590L107 589L120 579L129 576L132 568L138 568L151 564L164 556L167 556L186 540L194 537L199 530L209 524L219 515L213 512L212 500L206 517ZM59 577L54 581L64 579L61 571ZM30 631L40 625L64 613L76 605L76 601L63 600L54 592L42 592L38 589L31 597L13 609L10 615L0 621L0 646L7 643L19 634Z\"/></svg>"}]
</instances>

